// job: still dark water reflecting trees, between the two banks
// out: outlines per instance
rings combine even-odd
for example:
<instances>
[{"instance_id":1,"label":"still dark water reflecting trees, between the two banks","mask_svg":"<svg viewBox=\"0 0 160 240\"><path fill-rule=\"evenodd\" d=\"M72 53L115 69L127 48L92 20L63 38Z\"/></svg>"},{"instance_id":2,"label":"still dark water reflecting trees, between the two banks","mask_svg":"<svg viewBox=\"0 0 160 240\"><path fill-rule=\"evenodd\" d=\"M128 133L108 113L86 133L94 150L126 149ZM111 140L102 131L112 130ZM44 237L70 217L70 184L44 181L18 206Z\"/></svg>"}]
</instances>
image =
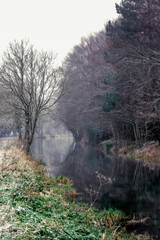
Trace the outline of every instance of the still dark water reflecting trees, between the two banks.
<instances>
[{"instance_id":1,"label":"still dark water reflecting trees, between the two banks","mask_svg":"<svg viewBox=\"0 0 160 240\"><path fill-rule=\"evenodd\" d=\"M53 176L73 180L78 198L101 208L118 208L135 219L139 232L160 239L160 170L142 162L124 160L87 144L75 144L68 132L36 138L32 153L46 163ZM156 239L156 238L155 238Z\"/></svg>"}]
</instances>

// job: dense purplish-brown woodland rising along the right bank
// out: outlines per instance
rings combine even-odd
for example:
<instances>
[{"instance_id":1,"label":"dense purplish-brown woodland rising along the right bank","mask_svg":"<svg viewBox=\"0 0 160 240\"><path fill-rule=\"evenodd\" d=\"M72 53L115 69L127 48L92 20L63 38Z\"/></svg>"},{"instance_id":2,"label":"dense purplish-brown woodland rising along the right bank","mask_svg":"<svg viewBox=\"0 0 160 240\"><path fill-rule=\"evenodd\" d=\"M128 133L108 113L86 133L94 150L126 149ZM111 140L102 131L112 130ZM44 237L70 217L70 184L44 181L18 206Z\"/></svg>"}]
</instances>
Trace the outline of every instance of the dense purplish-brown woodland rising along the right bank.
<instances>
[{"instance_id":1,"label":"dense purplish-brown woodland rising along the right bank","mask_svg":"<svg viewBox=\"0 0 160 240\"><path fill-rule=\"evenodd\" d=\"M123 0L118 18L74 47L58 104L76 140L160 141L160 1Z\"/></svg>"}]
</instances>

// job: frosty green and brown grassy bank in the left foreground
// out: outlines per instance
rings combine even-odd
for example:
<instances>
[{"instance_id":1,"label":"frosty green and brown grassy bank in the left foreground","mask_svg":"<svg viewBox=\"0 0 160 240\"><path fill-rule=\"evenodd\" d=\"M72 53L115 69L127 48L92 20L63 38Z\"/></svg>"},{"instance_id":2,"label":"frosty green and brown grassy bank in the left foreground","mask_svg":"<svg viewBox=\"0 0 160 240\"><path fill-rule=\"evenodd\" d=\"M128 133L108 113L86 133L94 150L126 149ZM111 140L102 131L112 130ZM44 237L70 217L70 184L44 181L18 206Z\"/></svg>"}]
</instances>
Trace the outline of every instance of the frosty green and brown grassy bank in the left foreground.
<instances>
[{"instance_id":1,"label":"frosty green and brown grassy bank in the left foreground","mask_svg":"<svg viewBox=\"0 0 160 240\"><path fill-rule=\"evenodd\" d=\"M0 239L151 239L128 235L122 212L96 210L75 195L69 179L48 176L13 144L0 145Z\"/></svg>"}]
</instances>

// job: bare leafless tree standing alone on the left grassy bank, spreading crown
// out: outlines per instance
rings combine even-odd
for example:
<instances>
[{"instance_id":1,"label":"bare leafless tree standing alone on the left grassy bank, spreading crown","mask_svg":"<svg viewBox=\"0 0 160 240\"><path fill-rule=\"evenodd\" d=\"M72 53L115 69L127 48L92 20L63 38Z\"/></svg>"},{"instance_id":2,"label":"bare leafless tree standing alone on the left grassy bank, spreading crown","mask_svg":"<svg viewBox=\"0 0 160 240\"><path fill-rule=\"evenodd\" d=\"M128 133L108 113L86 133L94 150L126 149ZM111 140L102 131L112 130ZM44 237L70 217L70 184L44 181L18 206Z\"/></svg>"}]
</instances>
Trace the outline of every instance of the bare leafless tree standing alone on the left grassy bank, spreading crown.
<instances>
[{"instance_id":1,"label":"bare leafless tree standing alone on the left grassy bank, spreading crown","mask_svg":"<svg viewBox=\"0 0 160 240\"><path fill-rule=\"evenodd\" d=\"M25 127L26 152L30 151L38 118L64 94L66 85L54 63L52 53L39 53L26 40L10 43L4 53L0 81L10 91L6 101Z\"/></svg>"}]
</instances>

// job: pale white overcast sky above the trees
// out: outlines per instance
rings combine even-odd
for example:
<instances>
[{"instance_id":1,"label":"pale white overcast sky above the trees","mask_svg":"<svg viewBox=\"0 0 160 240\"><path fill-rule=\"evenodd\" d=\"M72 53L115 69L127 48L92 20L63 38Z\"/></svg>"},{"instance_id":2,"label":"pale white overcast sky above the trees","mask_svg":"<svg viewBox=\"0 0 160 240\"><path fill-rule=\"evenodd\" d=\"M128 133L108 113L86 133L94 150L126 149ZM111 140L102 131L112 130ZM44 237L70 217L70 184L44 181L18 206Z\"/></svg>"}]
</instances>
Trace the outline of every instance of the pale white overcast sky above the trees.
<instances>
[{"instance_id":1,"label":"pale white overcast sky above the trees","mask_svg":"<svg viewBox=\"0 0 160 240\"><path fill-rule=\"evenodd\" d=\"M116 18L120 0L0 0L0 57L9 42L29 39L60 62L81 37Z\"/></svg>"}]
</instances>

